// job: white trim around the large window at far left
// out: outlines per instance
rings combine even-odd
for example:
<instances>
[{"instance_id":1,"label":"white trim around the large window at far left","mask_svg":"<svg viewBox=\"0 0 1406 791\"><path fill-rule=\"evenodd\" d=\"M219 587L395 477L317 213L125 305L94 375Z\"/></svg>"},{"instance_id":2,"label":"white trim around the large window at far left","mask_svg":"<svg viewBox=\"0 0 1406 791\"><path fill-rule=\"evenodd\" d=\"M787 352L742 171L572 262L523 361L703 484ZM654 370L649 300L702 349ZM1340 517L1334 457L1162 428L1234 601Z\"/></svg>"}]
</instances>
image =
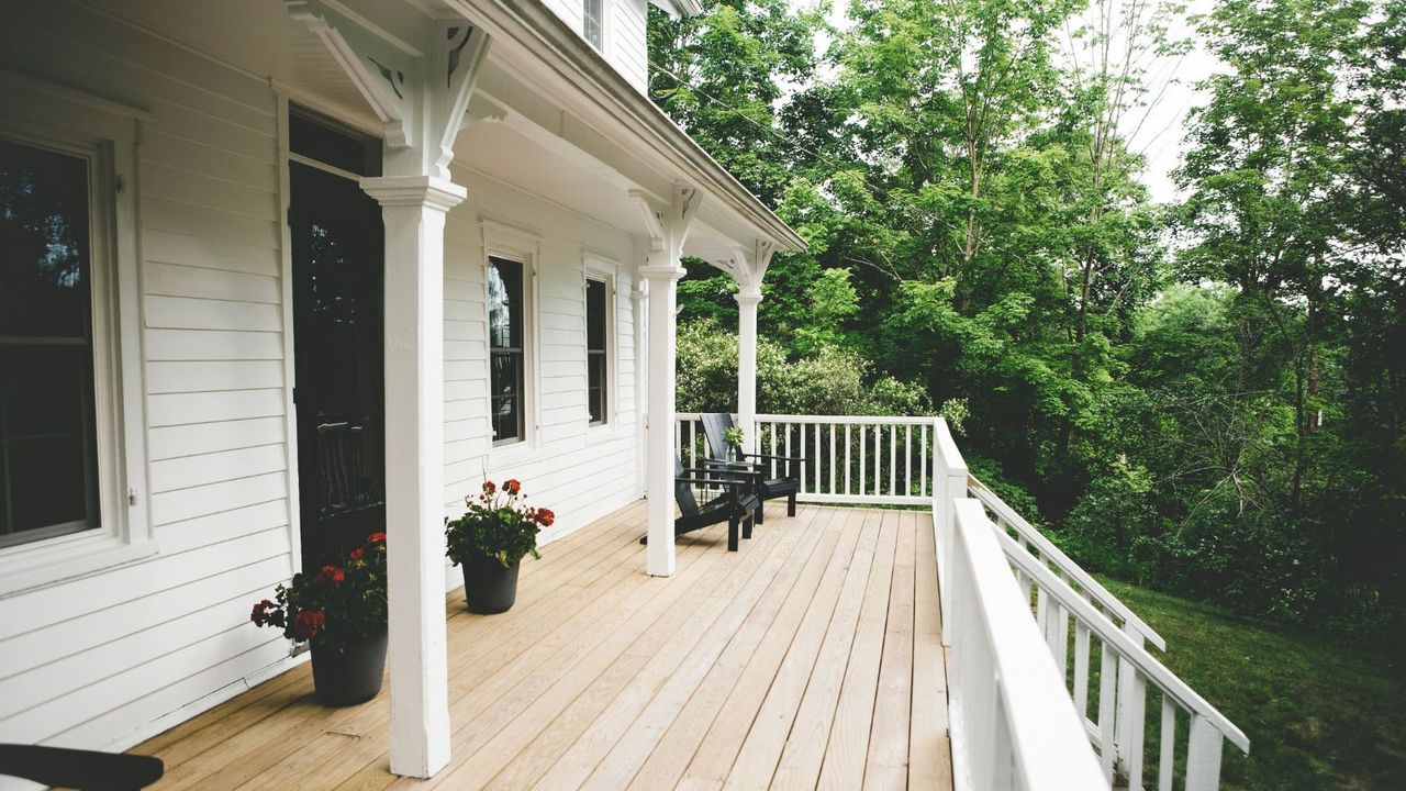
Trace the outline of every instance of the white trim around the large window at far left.
<instances>
[{"instance_id":1,"label":"white trim around the large window at far left","mask_svg":"<svg viewBox=\"0 0 1406 791\"><path fill-rule=\"evenodd\" d=\"M89 160L93 398L100 526L0 549L0 598L156 555L146 493L138 145L150 114L0 70L0 135Z\"/></svg>"}]
</instances>

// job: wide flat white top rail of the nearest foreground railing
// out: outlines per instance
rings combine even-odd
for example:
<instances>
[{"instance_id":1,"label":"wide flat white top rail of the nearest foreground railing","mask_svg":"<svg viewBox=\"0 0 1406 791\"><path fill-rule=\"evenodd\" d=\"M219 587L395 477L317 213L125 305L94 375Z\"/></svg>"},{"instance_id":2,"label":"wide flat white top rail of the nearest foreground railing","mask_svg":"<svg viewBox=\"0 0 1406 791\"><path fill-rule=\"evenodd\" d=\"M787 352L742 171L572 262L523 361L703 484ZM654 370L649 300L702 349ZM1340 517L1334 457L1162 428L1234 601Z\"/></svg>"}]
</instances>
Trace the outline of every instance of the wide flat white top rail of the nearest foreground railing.
<instances>
[{"instance_id":1,"label":"wide flat white top rail of the nearest foreground railing","mask_svg":"<svg viewBox=\"0 0 1406 791\"><path fill-rule=\"evenodd\" d=\"M979 615L991 640L1000 705L1019 785L1031 790L1107 788L1081 716L1045 646L1029 602L1011 584L997 531L976 500L955 501L955 540L966 549L974 597L960 616ZM972 712L974 714L974 712Z\"/></svg>"}]
</instances>

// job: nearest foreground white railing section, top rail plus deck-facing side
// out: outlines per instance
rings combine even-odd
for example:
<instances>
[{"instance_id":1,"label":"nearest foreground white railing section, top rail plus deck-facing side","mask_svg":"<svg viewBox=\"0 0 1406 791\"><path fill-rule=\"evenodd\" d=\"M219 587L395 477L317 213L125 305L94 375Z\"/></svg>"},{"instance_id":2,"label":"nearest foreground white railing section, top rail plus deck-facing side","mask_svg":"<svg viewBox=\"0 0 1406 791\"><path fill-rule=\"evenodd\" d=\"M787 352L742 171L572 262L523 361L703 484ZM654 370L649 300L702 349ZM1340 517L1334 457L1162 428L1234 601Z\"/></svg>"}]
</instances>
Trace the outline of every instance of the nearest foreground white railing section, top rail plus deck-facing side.
<instances>
[{"instance_id":1,"label":"nearest foreground white railing section, top rail plus deck-facing side","mask_svg":"<svg viewBox=\"0 0 1406 791\"><path fill-rule=\"evenodd\" d=\"M1104 790L1059 670L976 500L955 507L948 697L956 788Z\"/></svg>"}]
</instances>

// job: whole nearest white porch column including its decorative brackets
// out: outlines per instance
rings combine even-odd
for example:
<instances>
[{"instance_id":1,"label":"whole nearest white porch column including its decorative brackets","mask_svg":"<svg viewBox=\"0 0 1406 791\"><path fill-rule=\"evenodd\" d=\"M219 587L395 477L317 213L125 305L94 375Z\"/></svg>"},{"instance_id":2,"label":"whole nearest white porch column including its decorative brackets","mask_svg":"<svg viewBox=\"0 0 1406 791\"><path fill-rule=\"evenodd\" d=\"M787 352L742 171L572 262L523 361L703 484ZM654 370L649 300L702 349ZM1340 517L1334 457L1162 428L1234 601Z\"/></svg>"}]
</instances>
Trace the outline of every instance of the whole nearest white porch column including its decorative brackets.
<instances>
[{"instance_id":1,"label":"whole nearest white porch column including its decorative brackets","mask_svg":"<svg viewBox=\"0 0 1406 791\"><path fill-rule=\"evenodd\" d=\"M316 34L381 121L382 172L361 189L385 222L385 524L391 663L391 771L430 777L449 764L444 629L444 213L454 141L488 56L465 18L409 24L339 3L284 0ZM368 6L364 14L394 14ZM395 20L395 21L405 21ZM396 32L389 32L395 30Z\"/></svg>"}]
</instances>

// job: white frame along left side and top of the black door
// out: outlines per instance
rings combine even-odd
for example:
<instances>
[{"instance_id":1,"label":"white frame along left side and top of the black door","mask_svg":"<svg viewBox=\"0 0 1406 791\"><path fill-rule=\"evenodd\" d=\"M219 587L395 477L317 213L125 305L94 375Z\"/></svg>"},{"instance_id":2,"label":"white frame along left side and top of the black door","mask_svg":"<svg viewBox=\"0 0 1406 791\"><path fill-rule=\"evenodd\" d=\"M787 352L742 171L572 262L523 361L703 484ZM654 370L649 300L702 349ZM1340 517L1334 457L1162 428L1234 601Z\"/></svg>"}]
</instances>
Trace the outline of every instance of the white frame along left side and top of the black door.
<instances>
[{"instance_id":1,"label":"white frame along left side and top of the black door","mask_svg":"<svg viewBox=\"0 0 1406 791\"><path fill-rule=\"evenodd\" d=\"M292 398L297 376L297 350L292 334L294 327L294 281L292 281L292 228L288 224L288 211L292 207L292 175L290 165L297 159L288 142L290 107L297 104L309 111L323 115L346 128L367 137L382 139L380 129L347 120L339 114L329 113L321 103L304 97L290 90L287 86L273 86L274 103L277 104L278 124L278 152L277 152L277 186L278 186L278 291L280 314L283 318L283 436L284 436L284 473L288 504L288 576L302 570L302 494L298 486L298 407ZM333 169L335 170L335 169Z\"/></svg>"}]
</instances>

